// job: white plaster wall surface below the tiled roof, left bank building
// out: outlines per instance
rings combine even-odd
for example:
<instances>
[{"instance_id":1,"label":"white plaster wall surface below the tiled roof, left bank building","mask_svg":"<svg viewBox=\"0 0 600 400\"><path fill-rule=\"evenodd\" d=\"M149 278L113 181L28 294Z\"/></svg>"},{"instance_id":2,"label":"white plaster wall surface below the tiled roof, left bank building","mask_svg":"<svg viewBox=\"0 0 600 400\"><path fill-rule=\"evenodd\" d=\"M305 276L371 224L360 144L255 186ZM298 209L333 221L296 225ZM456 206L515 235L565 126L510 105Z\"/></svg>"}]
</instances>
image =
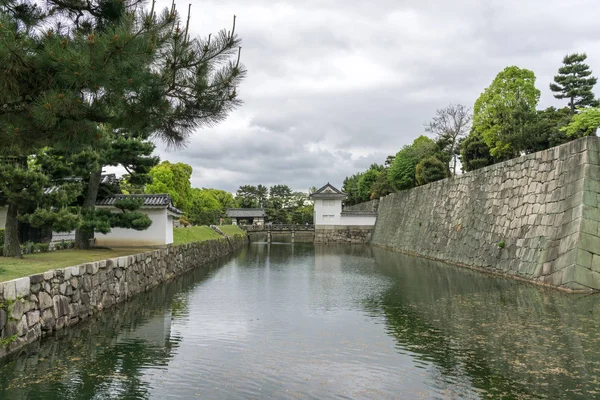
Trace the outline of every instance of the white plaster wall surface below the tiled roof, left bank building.
<instances>
[{"instance_id":1,"label":"white plaster wall surface below the tiled roof, left bank building","mask_svg":"<svg viewBox=\"0 0 600 400\"><path fill-rule=\"evenodd\" d=\"M167 209L141 209L141 212L148 215L152 220L152 225L145 231L136 231L135 229L113 228L106 235L96 233L96 245L107 247L135 247L135 246L156 246L165 245L167 242ZM171 225L172 227L173 225ZM171 243L173 242L173 232L171 228Z\"/></svg>"}]
</instances>

